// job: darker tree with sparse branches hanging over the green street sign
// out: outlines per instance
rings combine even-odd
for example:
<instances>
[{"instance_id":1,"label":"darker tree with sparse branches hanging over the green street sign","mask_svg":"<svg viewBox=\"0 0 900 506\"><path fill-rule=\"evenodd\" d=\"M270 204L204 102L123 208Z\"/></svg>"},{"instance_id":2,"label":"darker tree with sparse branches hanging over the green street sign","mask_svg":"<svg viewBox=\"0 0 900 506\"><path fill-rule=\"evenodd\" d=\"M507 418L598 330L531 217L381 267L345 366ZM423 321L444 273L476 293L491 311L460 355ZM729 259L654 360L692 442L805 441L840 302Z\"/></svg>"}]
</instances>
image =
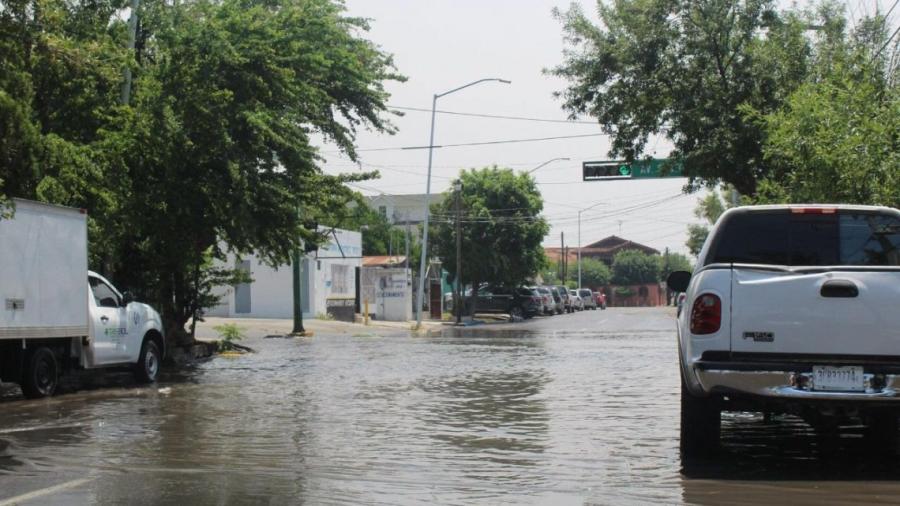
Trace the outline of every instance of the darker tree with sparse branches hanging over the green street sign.
<instances>
[{"instance_id":1,"label":"darker tree with sparse branches hanging over the green street sign","mask_svg":"<svg viewBox=\"0 0 900 506\"><path fill-rule=\"evenodd\" d=\"M610 156L641 157L651 135L673 144L690 185L733 184L752 194L763 128L739 110L778 109L804 80L809 16L773 0L598 0L601 26L578 6L556 11L569 48L550 72L572 116L597 118Z\"/></svg>"}]
</instances>

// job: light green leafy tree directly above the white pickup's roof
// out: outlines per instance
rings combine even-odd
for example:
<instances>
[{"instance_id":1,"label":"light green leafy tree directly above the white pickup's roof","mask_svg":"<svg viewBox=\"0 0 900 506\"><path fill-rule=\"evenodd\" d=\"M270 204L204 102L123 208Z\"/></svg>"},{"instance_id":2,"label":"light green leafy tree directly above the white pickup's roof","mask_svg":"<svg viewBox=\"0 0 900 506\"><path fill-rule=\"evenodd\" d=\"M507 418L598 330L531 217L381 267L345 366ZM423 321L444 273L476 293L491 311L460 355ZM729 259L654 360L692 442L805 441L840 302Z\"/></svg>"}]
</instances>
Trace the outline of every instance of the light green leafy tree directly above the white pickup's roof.
<instances>
[{"instance_id":1,"label":"light green leafy tree directly above the white pickup's roof","mask_svg":"<svg viewBox=\"0 0 900 506\"><path fill-rule=\"evenodd\" d=\"M865 30L838 33L817 48L814 77L769 113L748 109L766 132L773 170L756 202L835 202L900 206L900 75L871 57L887 47Z\"/></svg>"}]
</instances>

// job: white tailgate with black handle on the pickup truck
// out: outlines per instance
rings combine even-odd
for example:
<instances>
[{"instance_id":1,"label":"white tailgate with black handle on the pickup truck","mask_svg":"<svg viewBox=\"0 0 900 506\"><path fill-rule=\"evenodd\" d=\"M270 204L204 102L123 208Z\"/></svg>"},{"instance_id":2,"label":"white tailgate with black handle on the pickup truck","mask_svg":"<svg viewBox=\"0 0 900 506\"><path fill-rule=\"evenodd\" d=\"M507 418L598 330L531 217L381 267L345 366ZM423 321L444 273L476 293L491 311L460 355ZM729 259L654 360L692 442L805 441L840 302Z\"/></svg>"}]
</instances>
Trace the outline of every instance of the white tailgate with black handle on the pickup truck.
<instances>
[{"instance_id":1,"label":"white tailgate with black handle on the pickup truck","mask_svg":"<svg viewBox=\"0 0 900 506\"><path fill-rule=\"evenodd\" d=\"M735 267L731 351L900 356L900 270Z\"/></svg>"}]
</instances>

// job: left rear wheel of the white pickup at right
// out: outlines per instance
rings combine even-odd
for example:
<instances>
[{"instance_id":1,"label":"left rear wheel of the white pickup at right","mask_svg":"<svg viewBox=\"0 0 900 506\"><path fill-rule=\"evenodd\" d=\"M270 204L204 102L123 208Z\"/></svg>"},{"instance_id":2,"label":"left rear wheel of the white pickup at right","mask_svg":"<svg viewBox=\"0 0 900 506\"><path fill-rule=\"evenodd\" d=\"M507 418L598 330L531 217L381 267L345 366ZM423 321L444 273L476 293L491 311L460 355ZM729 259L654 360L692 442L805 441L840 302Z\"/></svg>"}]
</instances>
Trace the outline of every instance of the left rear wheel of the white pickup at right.
<instances>
[{"instance_id":1,"label":"left rear wheel of the white pickup at right","mask_svg":"<svg viewBox=\"0 0 900 506\"><path fill-rule=\"evenodd\" d=\"M683 373L682 373L683 374ZM709 455L719 447L722 412L715 399L695 397L681 378L681 455Z\"/></svg>"}]
</instances>

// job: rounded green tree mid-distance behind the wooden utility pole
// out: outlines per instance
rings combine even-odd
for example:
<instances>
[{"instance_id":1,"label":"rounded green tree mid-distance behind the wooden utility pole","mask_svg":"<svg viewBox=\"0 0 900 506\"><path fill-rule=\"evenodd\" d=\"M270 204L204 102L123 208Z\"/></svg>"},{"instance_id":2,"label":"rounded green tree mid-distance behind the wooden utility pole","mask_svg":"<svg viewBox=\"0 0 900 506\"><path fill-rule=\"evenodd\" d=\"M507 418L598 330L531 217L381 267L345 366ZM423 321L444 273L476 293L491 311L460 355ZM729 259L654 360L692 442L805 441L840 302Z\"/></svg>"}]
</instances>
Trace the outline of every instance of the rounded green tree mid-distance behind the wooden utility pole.
<instances>
[{"instance_id":1,"label":"rounded green tree mid-distance behind the wooden utility pole","mask_svg":"<svg viewBox=\"0 0 900 506\"><path fill-rule=\"evenodd\" d=\"M531 176L493 166L464 170L457 181L462 183L464 283L517 286L546 266L541 243L550 227L540 216L544 204ZM432 213L433 252L455 279L454 194L444 194Z\"/></svg>"}]
</instances>

